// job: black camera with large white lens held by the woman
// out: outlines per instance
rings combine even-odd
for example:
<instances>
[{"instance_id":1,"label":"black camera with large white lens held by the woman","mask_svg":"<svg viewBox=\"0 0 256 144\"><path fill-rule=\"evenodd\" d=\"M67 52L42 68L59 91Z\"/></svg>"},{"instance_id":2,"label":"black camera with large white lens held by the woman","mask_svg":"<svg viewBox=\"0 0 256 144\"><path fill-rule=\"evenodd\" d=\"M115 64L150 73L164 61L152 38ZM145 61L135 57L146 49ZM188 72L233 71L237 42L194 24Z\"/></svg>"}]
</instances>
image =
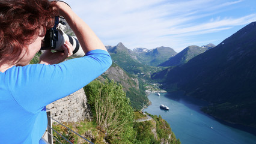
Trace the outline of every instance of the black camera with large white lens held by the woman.
<instances>
[{"instance_id":1,"label":"black camera with large white lens held by the woman","mask_svg":"<svg viewBox=\"0 0 256 144\"><path fill-rule=\"evenodd\" d=\"M62 45L68 40L73 46L72 57L78 58L85 56L84 50L79 44L78 39L65 34L64 25L66 25L66 23L59 22L59 17L55 17L55 25L53 28L46 31L46 35L41 44L41 50L52 49L61 52L63 51Z\"/></svg>"}]
</instances>

